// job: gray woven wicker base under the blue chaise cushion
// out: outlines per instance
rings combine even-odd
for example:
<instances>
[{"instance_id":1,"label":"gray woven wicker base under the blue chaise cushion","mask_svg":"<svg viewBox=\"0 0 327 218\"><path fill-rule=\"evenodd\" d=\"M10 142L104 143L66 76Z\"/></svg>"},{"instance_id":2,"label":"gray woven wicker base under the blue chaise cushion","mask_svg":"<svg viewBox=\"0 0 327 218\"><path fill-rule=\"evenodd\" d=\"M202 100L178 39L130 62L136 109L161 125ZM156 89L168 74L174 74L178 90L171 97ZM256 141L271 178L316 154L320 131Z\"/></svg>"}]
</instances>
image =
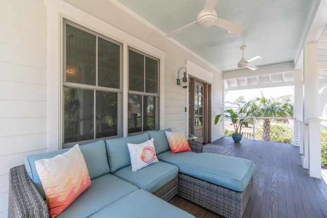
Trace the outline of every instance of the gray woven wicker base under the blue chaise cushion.
<instances>
[{"instance_id":1,"label":"gray woven wicker base under the blue chaise cushion","mask_svg":"<svg viewBox=\"0 0 327 218\"><path fill-rule=\"evenodd\" d=\"M177 195L224 217L242 217L252 187L252 178L244 191L235 191L179 173Z\"/></svg>"}]
</instances>

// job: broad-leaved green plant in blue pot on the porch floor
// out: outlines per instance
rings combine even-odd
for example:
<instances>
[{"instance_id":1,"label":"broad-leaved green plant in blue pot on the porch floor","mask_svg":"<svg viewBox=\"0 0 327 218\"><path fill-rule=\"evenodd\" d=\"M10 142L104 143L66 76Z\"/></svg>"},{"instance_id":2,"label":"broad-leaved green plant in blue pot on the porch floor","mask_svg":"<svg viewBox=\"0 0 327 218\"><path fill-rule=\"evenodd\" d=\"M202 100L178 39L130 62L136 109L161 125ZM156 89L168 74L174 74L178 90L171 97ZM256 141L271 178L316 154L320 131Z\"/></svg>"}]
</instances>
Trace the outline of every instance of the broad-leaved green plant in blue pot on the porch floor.
<instances>
[{"instance_id":1,"label":"broad-leaved green plant in blue pot on the porch floor","mask_svg":"<svg viewBox=\"0 0 327 218\"><path fill-rule=\"evenodd\" d=\"M248 118L246 110L242 107L239 112L235 112L232 109L228 109L224 111L224 114L218 114L215 118L215 125L218 123L219 118L227 117L231 120L232 125L234 126L234 133L231 134L234 142L239 143L242 139L242 127L248 127Z\"/></svg>"}]
</instances>

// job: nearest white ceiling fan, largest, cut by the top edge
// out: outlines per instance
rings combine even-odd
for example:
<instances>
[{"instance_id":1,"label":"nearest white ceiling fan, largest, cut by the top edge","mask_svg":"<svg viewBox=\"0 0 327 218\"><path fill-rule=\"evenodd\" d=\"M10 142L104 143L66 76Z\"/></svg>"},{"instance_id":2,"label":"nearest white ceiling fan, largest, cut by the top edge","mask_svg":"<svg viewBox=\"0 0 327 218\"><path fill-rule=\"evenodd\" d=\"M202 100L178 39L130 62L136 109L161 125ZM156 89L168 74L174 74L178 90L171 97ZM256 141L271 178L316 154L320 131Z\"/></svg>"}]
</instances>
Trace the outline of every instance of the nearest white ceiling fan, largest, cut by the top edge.
<instances>
[{"instance_id":1,"label":"nearest white ceiling fan, largest, cut by the top edge","mask_svg":"<svg viewBox=\"0 0 327 218\"><path fill-rule=\"evenodd\" d=\"M175 30L169 34L167 34L167 37L171 37L193 25L196 23L203 28L212 27L214 25L221 27L228 32L232 32L235 34L242 33L246 27L243 27L241 25L238 25L236 23L230 22L228 20L224 20L217 17L217 12L215 11L215 7L217 4L217 0L206 0L204 9L198 14L198 18L196 21L189 23L188 25L185 25L184 27L179 28L178 30Z\"/></svg>"}]
</instances>

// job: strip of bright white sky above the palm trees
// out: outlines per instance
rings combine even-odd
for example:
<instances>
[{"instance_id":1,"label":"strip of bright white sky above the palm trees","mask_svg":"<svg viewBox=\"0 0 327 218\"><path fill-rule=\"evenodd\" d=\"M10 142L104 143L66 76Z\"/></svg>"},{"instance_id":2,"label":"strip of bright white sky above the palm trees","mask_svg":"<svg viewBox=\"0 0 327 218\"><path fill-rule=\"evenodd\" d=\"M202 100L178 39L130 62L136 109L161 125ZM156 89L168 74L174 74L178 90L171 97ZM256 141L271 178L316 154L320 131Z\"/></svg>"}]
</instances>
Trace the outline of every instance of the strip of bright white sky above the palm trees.
<instances>
[{"instance_id":1,"label":"strip of bright white sky above the palm trees","mask_svg":"<svg viewBox=\"0 0 327 218\"><path fill-rule=\"evenodd\" d=\"M282 86L282 87L272 87L272 88L258 88L258 89L244 89L236 91L226 91L225 101L234 102L239 96L244 96L245 102L251 101L254 97L260 97L261 91L266 98L272 97L277 99L283 95L294 95L293 86Z\"/></svg>"}]
</instances>

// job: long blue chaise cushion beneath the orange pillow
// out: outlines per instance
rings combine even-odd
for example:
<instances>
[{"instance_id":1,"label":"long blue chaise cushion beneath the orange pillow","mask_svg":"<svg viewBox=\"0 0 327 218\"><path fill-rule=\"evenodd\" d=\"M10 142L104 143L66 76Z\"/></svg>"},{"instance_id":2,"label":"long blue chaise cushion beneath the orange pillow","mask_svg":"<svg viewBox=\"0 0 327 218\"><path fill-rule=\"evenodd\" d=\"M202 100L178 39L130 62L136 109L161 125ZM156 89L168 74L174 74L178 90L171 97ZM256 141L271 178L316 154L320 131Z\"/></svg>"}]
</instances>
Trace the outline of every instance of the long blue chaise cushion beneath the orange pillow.
<instances>
[{"instance_id":1,"label":"long blue chaise cushion beneath the orange pillow","mask_svg":"<svg viewBox=\"0 0 327 218\"><path fill-rule=\"evenodd\" d=\"M157 157L159 161L177 165L180 173L236 191L244 191L255 167L251 160L210 153L167 151Z\"/></svg>"}]
</instances>

